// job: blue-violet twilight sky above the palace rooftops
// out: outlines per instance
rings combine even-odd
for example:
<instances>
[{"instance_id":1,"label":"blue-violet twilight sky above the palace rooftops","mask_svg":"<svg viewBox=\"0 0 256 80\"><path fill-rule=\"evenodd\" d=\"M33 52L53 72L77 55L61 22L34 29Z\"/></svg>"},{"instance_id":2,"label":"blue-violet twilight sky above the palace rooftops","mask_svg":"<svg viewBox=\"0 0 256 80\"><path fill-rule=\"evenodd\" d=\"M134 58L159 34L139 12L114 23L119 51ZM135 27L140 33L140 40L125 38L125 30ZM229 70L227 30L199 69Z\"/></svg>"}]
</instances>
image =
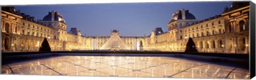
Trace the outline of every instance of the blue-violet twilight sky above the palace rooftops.
<instances>
[{"instance_id":1,"label":"blue-violet twilight sky above the palace rooftops","mask_svg":"<svg viewBox=\"0 0 256 80\"><path fill-rule=\"evenodd\" d=\"M232 2L168 2L168 3L106 3L106 4L62 4L62 5L18 5L16 10L43 19L48 12L60 12L67 22L67 30L77 27L82 35L109 36L117 29L121 36L150 35L151 30L162 27L172 14L180 9L189 10L196 19L202 20L221 14Z\"/></svg>"}]
</instances>

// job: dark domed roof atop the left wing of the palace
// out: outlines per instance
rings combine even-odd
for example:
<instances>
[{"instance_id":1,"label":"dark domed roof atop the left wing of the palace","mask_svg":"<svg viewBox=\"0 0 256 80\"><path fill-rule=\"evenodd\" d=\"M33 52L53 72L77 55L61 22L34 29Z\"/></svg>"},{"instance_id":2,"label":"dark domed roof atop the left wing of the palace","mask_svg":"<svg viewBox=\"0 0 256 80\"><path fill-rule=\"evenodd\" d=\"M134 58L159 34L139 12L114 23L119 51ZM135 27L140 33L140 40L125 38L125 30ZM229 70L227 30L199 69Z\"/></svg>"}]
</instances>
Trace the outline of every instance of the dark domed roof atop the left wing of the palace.
<instances>
[{"instance_id":1,"label":"dark domed roof atop the left wing of the palace","mask_svg":"<svg viewBox=\"0 0 256 80\"><path fill-rule=\"evenodd\" d=\"M63 16L59 12L56 12L56 11L49 12L48 15L46 15L43 18L43 21L52 21L52 16L54 17L53 21L59 21L66 25L66 21L63 19Z\"/></svg>"}]
</instances>

